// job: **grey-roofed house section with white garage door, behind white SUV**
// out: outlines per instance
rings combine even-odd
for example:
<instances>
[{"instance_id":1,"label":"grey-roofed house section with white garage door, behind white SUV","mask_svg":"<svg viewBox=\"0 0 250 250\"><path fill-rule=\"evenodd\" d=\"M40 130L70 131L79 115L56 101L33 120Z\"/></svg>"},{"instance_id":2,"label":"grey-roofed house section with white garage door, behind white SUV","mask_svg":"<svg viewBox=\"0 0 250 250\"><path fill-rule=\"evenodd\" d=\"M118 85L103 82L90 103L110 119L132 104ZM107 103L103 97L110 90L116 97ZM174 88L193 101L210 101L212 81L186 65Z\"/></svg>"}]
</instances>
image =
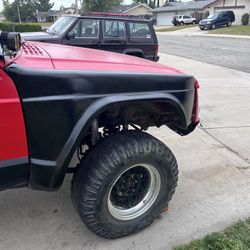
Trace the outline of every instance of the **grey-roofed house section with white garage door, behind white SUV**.
<instances>
[{"instance_id":1,"label":"grey-roofed house section with white garage door, behind white SUV","mask_svg":"<svg viewBox=\"0 0 250 250\"><path fill-rule=\"evenodd\" d=\"M153 18L156 20L156 25L172 25L175 15L188 15L199 21L209 15L210 5L214 2L216 0L168 2L152 10Z\"/></svg>"}]
</instances>

